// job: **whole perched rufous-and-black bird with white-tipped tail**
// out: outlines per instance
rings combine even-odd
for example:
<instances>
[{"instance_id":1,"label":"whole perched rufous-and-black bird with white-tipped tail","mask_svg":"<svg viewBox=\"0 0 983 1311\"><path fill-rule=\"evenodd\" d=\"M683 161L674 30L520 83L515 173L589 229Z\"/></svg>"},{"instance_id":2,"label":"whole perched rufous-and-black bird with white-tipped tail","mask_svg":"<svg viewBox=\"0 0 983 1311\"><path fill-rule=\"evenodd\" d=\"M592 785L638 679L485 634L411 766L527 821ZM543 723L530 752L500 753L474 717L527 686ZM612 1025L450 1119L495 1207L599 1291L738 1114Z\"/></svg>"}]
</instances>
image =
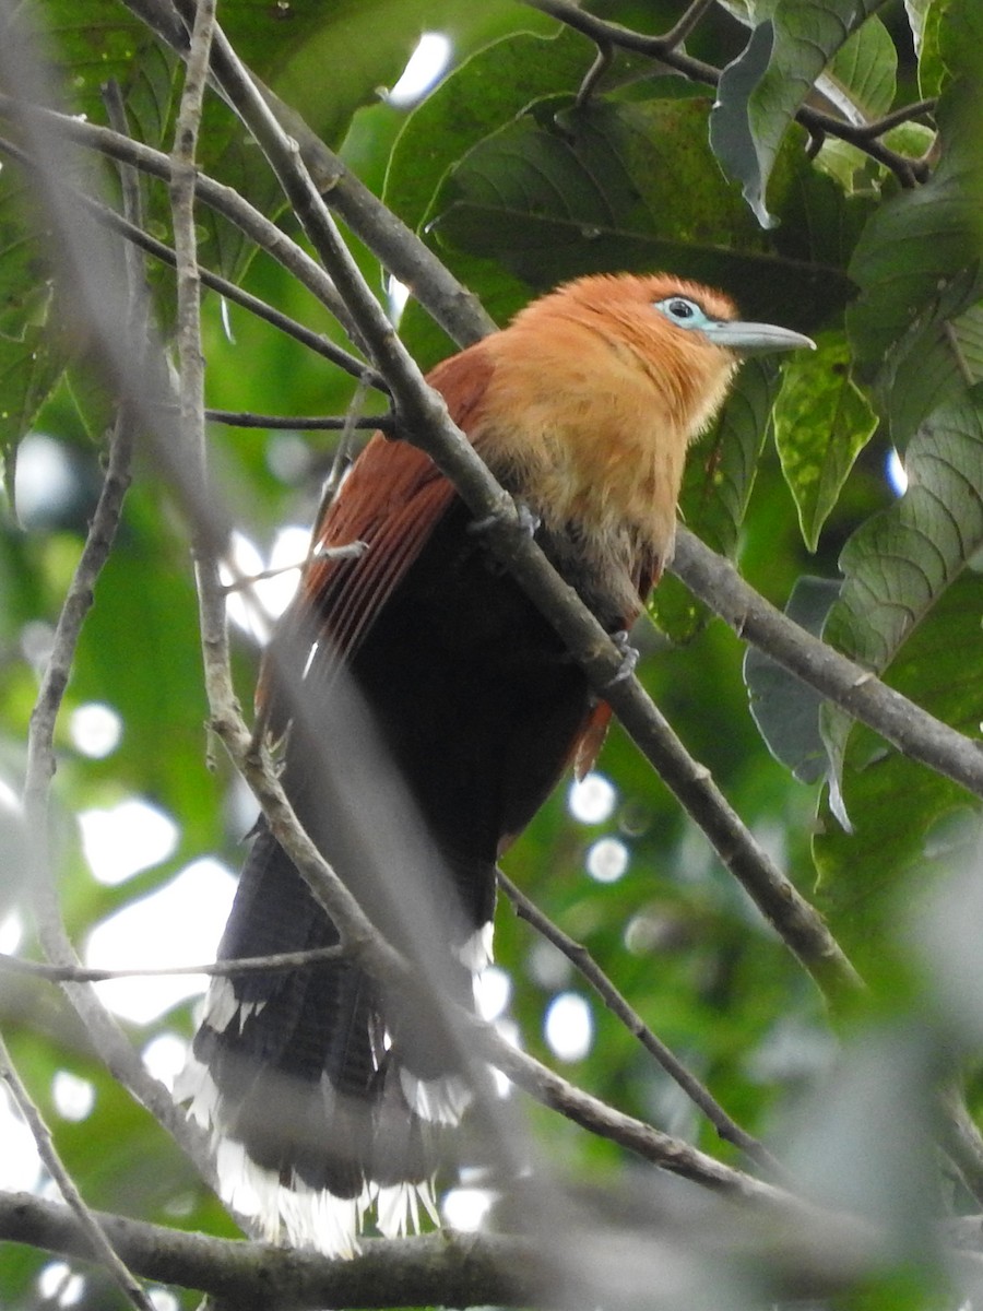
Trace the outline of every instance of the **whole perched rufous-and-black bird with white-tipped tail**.
<instances>
[{"instance_id":1,"label":"whole perched rufous-and-black bird with white-tipped tail","mask_svg":"<svg viewBox=\"0 0 983 1311\"><path fill-rule=\"evenodd\" d=\"M429 382L528 509L560 574L616 633L672 553L687 446L741 358L811 345L739 321L726 296L691 282L598 275L533 302ZM325 549L355 541L364 551L343 558ZM315 526L267 662L266 713L299 818L387 936L410 956L442 953L440 979L471 1003L495 863L564 770L590 764L608 707L430 458L381 435ZM342 717L339 673L433 843L423 948L404 932L423 894L398 847L389 840L381 872L370 869L380 864L374 767L342 787L358 734ZM333 943L261 819L220 957ZM347 1255L372 1203L385 1234L405 1232L421 1203L433 1213L439 1139L468 1086L419 1012L345 958L214 979L181 1095L214 1134L224 1194L271 1238Z\"/></svg>"}]
</instances>

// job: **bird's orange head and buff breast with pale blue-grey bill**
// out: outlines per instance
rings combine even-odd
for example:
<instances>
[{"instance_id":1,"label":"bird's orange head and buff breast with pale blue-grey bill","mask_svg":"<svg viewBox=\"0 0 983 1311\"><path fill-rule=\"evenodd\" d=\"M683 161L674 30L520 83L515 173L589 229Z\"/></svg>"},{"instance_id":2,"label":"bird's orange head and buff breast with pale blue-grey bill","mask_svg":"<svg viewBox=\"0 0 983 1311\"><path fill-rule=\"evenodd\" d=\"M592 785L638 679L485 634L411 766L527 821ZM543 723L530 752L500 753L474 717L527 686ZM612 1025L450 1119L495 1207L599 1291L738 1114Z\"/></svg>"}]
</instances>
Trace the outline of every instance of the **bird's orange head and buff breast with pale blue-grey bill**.
<instances>
[{"instance_id":1,"label":"bird's orange head and buff breast with pale blue-grey bill","mask_svg":"<svg viewBox=\"0 0 983 1311\"><path fill-rule=\"evenodd\" d=\"M595 274L533 300L478 347L488 379L472 439L544 520L598 540L625 524L671 549L689 442L741 358L811 346L743 323L720 291L667 274ZM465 353L465 359L471 353Z\"/></svg>"}]
</instances>

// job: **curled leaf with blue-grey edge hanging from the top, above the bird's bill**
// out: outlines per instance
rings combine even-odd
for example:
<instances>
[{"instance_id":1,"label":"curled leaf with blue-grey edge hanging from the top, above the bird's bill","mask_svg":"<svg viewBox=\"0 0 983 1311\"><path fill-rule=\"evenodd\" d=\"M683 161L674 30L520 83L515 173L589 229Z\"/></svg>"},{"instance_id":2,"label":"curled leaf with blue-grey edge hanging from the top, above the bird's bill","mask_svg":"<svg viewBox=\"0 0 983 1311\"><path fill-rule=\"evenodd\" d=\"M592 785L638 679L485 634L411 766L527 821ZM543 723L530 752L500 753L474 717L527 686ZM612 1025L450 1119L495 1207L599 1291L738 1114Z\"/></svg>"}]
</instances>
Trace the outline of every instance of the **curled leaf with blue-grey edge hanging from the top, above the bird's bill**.
<instances>
[{"instance_id":1,"label":"curled leaf with blue-grey edge hanging from the top, above the bird's bill","mask_svg":"<svg viewBox=\"0 0 983 1311\"><path fill-rule=\"evenodd\" d=\"M710 144L723 172L742 184L763 227L776 219L765 191L781 140L823 68L883 0L779 0L773 14L721 75ZM879 47L882 49L882 46ZM873 42L857 55L872 79ZM844 64L845 67L845 64ZM873 80L879 81L878 73Z\"/></svg>"}]
</instances>

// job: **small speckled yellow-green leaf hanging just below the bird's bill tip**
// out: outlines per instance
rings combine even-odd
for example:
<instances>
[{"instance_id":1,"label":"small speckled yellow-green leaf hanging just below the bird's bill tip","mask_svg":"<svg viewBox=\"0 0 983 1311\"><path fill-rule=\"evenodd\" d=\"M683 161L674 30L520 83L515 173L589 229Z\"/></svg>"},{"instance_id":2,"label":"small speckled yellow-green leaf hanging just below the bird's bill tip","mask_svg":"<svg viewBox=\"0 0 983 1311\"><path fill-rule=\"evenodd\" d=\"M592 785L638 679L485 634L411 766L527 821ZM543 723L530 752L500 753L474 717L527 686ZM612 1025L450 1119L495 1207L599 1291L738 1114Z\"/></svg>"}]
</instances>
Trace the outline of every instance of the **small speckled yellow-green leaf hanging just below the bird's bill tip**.
<instances>
[{"instance_id":1,"label":"small speckled yellow-green leaf hanging just below the bird's bill tip","mask_svg":"<svg viewBox=\"0 0 983 1311\"><path fill-rule=\"evenodd\" d=\"M810 551L877 427L851 378L843 337L822 336L818 346L817 355L786 362L775 408L775 443Z\"/></svg>"}]
</instances>

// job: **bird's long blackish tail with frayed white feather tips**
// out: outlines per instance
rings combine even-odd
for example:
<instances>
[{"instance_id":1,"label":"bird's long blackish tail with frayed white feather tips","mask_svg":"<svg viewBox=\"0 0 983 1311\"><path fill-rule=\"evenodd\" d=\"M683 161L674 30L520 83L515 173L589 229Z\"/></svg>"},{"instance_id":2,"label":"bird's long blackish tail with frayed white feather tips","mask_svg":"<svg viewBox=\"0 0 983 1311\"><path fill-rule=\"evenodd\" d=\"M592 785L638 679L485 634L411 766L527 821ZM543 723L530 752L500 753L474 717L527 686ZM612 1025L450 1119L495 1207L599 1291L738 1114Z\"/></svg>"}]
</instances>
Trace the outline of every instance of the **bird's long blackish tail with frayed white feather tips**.
<instances>
[{"instance_id":1,"label":"bird's long blackish tail with frayed white feather tips","mask_svg":"<svg viewBox=\"0 0 983 1311\"><path fill-rule=\"evenodd\" d=\"M220 960L337 943L261 822ZM472 970L453 974L469 1003ZM387 1236L436 1218L442 1130L469 1089L423 1009L343 958L212 979L177 1095L212 1134L223 1197L267 1238L343 1256L372 1207Z\"/></svg>"}]
</instances>

